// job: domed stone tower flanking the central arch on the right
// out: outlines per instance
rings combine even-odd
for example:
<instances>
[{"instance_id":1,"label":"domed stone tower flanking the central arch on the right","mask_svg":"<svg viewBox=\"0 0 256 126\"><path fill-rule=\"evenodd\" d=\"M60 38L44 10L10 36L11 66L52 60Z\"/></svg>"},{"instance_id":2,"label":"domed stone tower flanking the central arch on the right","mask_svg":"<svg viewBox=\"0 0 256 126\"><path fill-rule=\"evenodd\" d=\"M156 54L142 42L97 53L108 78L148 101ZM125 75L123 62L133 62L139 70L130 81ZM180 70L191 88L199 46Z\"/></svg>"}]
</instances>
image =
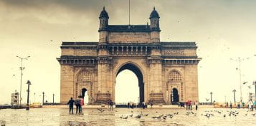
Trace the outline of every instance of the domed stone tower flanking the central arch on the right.
<instances>
[{"instance_id":1,"label":"domed stone tower flanking the central arch on the right","mask_svg":"<svg viewBox=\"0 0 256 126\"><path fill-rule=\"evenodd\" d=\"M155 9L151 12L150 16L151 28L151 56L148 58L151 78L149 83L151 85L151 102L164 103L163 88L162 88L162 64L161 64L161 44L160 44L160 28L159 28L159 15Z\"/></svg>"}]
</instances>

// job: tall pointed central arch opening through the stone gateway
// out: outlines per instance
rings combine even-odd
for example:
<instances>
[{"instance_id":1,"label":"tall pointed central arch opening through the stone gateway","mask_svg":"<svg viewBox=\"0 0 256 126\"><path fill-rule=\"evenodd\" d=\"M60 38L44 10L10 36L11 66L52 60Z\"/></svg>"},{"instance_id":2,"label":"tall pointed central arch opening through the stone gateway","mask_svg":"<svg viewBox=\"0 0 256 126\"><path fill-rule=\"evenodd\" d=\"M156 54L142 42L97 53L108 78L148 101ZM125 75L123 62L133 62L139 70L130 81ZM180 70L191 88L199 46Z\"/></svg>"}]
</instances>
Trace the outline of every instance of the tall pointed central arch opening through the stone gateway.
<instances>
[{"instance_id":1,"label":"tall pointed central arch opening through the stone gateway","mask_svg":"<svg viewBox=\"0 0 256 126\"><path fill-rule=\"evenodd\" d=\"M141 103L144 101L144 85L141 70L136 65L123 65L116 74L115 103Z\"/></svg>"}]
</instances>

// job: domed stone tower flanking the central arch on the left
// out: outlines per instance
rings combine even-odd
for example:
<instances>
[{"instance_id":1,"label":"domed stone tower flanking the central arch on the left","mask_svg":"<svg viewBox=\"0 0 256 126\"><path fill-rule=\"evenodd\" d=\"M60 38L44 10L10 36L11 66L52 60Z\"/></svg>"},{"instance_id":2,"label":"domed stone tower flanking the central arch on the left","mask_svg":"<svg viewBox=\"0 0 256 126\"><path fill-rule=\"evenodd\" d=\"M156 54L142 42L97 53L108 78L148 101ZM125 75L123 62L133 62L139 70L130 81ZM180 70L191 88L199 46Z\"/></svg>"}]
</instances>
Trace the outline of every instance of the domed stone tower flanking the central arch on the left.
<instances>
[{"instance_id":1,"label":"domed stone tower flanking the central arch on the left","mask_svg":"<svg viewBox=\"0 0 256 126\"><path fill-rule=\"evenodd\" d=\"M100 28L99 34L100 39L98 43L98 90L96 103L106 103L111 98L111 73L110 73L110 64L112 58L109 56L108 51L108 12L100 12Z\"/></svg>"}]
</instances>

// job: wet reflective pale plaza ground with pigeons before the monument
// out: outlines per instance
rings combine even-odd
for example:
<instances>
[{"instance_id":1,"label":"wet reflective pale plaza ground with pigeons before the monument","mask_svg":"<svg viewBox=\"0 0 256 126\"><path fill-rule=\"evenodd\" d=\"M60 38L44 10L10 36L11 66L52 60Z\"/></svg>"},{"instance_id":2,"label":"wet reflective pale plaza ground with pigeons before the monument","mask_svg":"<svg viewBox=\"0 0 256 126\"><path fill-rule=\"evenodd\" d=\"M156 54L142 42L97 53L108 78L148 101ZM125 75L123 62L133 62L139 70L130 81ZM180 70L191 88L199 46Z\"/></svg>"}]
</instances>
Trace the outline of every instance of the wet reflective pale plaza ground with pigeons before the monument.
<instances>
[{"instance_id":1,"label":"wet reflective pale plaza ground with pigeons before the monument","mask_svg":"<svg viewBox=\"0 0 256 126\"><path fill-rule=\"evenodd\" d=\"M83 109L84 115L70 115L67 108L0 110L6 125L255 125L256 111L247 109L116 108L113 111Z\"/></svg>"}]
</instances>

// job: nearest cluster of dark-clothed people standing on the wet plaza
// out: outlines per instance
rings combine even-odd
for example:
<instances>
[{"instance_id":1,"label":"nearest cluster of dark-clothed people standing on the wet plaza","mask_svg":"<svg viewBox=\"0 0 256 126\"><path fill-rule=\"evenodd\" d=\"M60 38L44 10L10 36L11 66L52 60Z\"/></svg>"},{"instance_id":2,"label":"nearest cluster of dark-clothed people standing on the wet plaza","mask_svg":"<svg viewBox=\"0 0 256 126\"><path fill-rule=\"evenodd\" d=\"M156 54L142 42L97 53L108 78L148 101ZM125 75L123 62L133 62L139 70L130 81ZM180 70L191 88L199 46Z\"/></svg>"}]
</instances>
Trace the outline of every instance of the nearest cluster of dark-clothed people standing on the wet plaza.
<instances>
[{"instance_id":1,"label":"nearest cluster of dark-clothed people standing on the wet plaza","mask_svg":"<svg viewBox=\"0 0 256 126\"><path fill-rule=\"evenodd\" d=\"M77 99L73 100L73 98L70 98L70 100L67 103L70 107L70 114L73 114L73 108L74 108L74 104L76 106L76 114L78 112L78 114L82 114L82 106L84 105L84 99L82 98L82 96L78 96Z\"/></svg>"}]
</instances>

